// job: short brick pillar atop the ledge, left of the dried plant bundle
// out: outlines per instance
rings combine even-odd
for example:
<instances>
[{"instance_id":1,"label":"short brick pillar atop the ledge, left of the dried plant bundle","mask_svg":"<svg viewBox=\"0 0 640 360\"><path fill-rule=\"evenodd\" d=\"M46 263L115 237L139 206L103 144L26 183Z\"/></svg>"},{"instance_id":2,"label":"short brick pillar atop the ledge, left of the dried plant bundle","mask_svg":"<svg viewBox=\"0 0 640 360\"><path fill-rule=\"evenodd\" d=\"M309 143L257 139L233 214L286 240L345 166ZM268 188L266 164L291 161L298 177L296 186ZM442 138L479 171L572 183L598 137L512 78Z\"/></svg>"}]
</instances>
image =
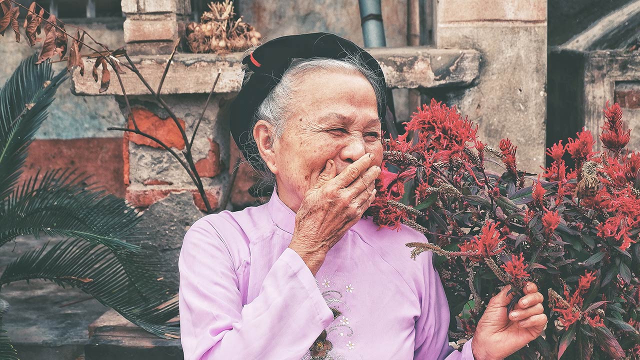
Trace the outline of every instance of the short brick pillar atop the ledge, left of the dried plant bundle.
<instances>
[{"instance_id":1,"label":"short brick pillar atop the ledge, left of the dried plant bundle","mask_svg":"<svg viewBox=\"0 0 640 360\"><path fill-rule=\"evenodd\" d=\"M122 0L124 40L136 54L170 54L184 35L191 15L189 0Z\"/></svg>"}]
</instances>

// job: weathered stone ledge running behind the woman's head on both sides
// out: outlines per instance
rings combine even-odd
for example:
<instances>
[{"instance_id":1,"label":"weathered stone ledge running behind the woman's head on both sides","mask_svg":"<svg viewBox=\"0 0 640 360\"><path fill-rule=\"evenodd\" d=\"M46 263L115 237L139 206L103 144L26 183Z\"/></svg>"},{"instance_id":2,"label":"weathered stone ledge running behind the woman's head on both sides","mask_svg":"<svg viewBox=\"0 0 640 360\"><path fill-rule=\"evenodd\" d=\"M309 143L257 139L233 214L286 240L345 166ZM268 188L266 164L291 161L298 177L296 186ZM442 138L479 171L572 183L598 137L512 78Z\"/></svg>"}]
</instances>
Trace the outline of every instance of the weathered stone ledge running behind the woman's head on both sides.
<instances>
[{"instance_id":1,"label":"weathered stone ledge running behind the woman's head on both sides","mask_svg":"<svg viewBox=\"0 0 640 360\"><path fill-rule=\"evenodd\" d=\"M480 53L475 50L433 49L429 47L380 47L369 50L380 62L390 88L438 88L447 86L468 86L477 78L480 67ZM163 94L208 94L222 70L217 93L234 93L242 83L242 53L216 54L176 54L163 85ZM136 56L132 58L145 76L149 85L156 89L168 56ZM93 59L84 59L85 69L93 67ZM124 69L124 68L123 68ZM131 71L122 74L129 95L148 95L148 90ZM91 71L84 77L74 70L72 91L76 95L122 95L115 76L111 76L111 86L99 94L99 82L93 81Z\"/></svg>"}]
</instances>

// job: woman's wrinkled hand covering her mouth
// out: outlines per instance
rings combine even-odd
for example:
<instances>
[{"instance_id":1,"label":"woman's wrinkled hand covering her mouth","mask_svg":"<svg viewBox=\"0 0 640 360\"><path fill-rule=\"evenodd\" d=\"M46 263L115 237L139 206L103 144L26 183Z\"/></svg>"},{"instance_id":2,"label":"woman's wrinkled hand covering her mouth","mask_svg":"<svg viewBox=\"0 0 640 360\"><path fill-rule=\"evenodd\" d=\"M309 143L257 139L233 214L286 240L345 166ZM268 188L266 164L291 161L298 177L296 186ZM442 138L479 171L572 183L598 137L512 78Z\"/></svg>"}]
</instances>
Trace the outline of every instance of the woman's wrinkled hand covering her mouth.
<instances>
[{"instance_id":1,"label":"woman's wrinkled hand covering her mouth","mask_svg":"<svg viewBox=\"0 0 640 360\"><path fill-rule=\"evenodd\" d=\"M364 154L340 174L328 160L316 185L308 190L296 213L289 248L297 252L314 276L326 253L355 225L376 195L375 180L380 167L374 155Z\"/></svg>"}]
</instances>

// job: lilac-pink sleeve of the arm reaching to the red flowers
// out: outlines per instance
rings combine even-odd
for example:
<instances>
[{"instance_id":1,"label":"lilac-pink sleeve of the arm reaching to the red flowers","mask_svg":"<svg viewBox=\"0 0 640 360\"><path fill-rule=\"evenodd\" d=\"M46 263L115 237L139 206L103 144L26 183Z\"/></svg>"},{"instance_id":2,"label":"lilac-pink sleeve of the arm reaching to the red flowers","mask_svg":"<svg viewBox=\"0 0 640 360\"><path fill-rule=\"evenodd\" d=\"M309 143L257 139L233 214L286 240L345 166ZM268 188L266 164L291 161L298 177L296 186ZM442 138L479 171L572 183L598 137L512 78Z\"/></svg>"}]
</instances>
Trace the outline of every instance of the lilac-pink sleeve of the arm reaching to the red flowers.
<instances>
[{"instance_id":1,"label":"lilac-pink sleeve of the arm reaching to the red flowers","mask_svg":"<svg viewBox=\"0 0 640 360\"><path fill-rule=\"evenodd\" d=\"M415 347L413 358L416 360L446 359L474 360L471 350L473 338L463 345L462 351L449 345L449 303L440 280L433 267L433 254L421 254L427 261L424 264L424 293L422 314L415 322ZM434 357L434 354L438 354Z\"/></svg>"}]
</instances>

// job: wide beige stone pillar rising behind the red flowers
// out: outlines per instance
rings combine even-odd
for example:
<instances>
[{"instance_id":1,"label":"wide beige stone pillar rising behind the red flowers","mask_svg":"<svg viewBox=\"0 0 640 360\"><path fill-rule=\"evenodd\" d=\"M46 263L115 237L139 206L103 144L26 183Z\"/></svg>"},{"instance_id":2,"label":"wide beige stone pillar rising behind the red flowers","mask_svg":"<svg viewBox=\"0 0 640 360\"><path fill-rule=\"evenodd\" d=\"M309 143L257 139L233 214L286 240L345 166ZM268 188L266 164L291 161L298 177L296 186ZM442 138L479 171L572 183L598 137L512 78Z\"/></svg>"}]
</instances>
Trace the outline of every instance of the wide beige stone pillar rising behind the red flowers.
<instances>
[{"instance_id":1,"label":"wide beige stone pillar rising behind the red flowers","mask_svg":"<svg viewBox=\"0 0 640 360\"><path fill-rule=\"evenodd\" d=\"M434 0L438 48L481 53L477 86L441 94L479 124L481 140L518 146L518 167L545 158L547 0ZM438 96L436 96L438 97Z\"/></svg>"}]
</instances>

